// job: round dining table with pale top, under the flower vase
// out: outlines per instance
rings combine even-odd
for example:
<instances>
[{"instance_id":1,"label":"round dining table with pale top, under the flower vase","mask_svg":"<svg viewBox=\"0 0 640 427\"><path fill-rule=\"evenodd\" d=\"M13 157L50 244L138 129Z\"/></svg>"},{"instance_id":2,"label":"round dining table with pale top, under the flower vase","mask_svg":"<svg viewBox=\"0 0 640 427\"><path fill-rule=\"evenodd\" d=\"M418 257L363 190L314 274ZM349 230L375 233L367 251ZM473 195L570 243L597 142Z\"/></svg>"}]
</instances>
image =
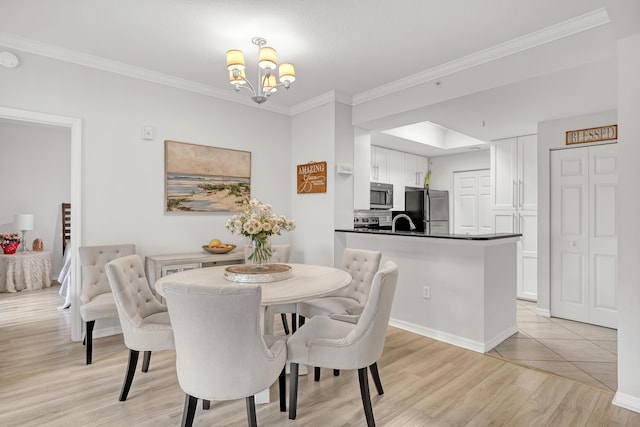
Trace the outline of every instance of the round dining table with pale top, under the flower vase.
<instances>
[{"instance_id":1,"label":"round dining table with pale top, under the flower vase","mask_svg":"<svg viewBox=\"0 0 640 427\"><path fill-rule=\"evenodd\" d=\"M265 325L266 308L275 304L290 304L329 295L351 283L352 277L345 270L313 264L278 264L290 267L290 277L269 282L250 282L260 285L262 299L260 301L260 322L262 330ZM236 266L221 265L215 267L198 268L181 271L158 279L155 283L156 292L164 297L165 283L182 283L193 285L224 285L242 284L225 278L234 277L227 271ZM304 372L304 371L301 371ZM256 403L269 402L269 390L256 394Z\"/></svg>"}]
</instances>

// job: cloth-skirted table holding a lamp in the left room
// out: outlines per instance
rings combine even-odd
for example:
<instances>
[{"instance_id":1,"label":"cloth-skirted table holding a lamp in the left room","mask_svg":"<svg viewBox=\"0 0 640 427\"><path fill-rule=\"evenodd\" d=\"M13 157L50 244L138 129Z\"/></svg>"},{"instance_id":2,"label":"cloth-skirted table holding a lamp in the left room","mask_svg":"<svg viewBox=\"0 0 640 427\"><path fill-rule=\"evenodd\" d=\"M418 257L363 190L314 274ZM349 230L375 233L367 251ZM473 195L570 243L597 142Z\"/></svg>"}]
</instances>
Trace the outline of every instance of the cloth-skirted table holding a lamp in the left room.
<instances>
[{"instance_id":1,"label":"cloth-skirted table holding a lamp in the left room","mask_svg":"<svg viewBox=\"0 0 640 427\"><path fill-rule=\"evenodd\" d=\"M32 291L51 286L51 252L0 254L0 292Z\"/></svg>"}]
</instances>

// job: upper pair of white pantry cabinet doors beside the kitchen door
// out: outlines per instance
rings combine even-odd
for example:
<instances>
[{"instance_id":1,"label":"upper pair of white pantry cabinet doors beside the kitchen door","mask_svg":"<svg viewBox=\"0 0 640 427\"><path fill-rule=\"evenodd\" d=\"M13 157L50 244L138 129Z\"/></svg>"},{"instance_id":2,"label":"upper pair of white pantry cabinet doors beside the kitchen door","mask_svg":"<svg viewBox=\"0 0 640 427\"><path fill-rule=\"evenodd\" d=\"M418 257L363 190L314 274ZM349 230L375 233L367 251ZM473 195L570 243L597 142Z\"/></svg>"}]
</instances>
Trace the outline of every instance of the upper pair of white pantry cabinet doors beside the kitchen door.
<instances>
[{"instance_id":1,"label":"upper pair of white pantry cabinet doors beside the kitchen door","mask_svg":"<svg viewBox=\"0 0 640 427\"><path fill-rule=\"evenodd\" d=\"M493 208L537 210L537 136L527 135L491 144Z\"/></svg>"}]
</instances>

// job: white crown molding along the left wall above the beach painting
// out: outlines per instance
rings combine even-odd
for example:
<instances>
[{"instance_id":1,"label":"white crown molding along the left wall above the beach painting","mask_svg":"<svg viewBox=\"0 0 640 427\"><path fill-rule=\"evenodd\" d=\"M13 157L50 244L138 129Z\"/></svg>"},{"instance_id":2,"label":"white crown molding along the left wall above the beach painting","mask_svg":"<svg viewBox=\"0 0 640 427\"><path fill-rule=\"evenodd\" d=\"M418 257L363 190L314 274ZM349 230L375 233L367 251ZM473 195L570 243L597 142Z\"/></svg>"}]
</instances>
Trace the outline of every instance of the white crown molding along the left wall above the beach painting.
<instances>
[{"instance_id":1,"label":"white crown molding along the left wall above the beach painting","mask_svg":"<svg viewBox=\"0 0 640 427\"><path fill-rule=\"evenodd\" d=\"M125 64L123 62L113 61L99 56L89 55L75 50L18 37L13 34L0 32L0 45L20 50L22 52L32 53L34 55L45 56L59 61L70 62L84 67L95 68L109 73L145 80L151 83L182 89L200 95L211 96L249 107L260 108L261 110L268 110L286 115L291 114L288 107L283 107L274 103L258 105L248 97L240 97L233 91L221 90L192 80L186 80L169 74L163 74L146 68L137 67L135 65Z\"/></svg>"}]
</instances>

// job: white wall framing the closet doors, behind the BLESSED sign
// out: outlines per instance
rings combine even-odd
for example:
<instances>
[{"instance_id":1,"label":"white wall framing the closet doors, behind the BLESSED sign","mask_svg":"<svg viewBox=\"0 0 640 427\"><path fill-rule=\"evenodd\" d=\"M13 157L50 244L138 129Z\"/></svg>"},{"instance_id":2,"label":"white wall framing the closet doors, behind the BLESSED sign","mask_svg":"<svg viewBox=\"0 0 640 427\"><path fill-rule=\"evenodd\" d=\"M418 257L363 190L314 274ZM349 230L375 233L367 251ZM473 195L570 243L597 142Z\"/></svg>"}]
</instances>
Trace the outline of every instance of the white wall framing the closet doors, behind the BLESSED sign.
<instances>
[{"instance_id":1,"label":"white wall framing the closet doors, behind the BLESSED sign","mask_svg":"<svg viewBox=\"0 0 640 427\"><path fill-rule=\"evenodd\" d=\"M538 310L549 313L550 288L550 166L552 149L567 148L566 132L616 124L616 111L603 111L538 124ZM582 144L585 146L588 144ZM553 313L551 313L553 314Z\"/></svg>"}]
</instances>

